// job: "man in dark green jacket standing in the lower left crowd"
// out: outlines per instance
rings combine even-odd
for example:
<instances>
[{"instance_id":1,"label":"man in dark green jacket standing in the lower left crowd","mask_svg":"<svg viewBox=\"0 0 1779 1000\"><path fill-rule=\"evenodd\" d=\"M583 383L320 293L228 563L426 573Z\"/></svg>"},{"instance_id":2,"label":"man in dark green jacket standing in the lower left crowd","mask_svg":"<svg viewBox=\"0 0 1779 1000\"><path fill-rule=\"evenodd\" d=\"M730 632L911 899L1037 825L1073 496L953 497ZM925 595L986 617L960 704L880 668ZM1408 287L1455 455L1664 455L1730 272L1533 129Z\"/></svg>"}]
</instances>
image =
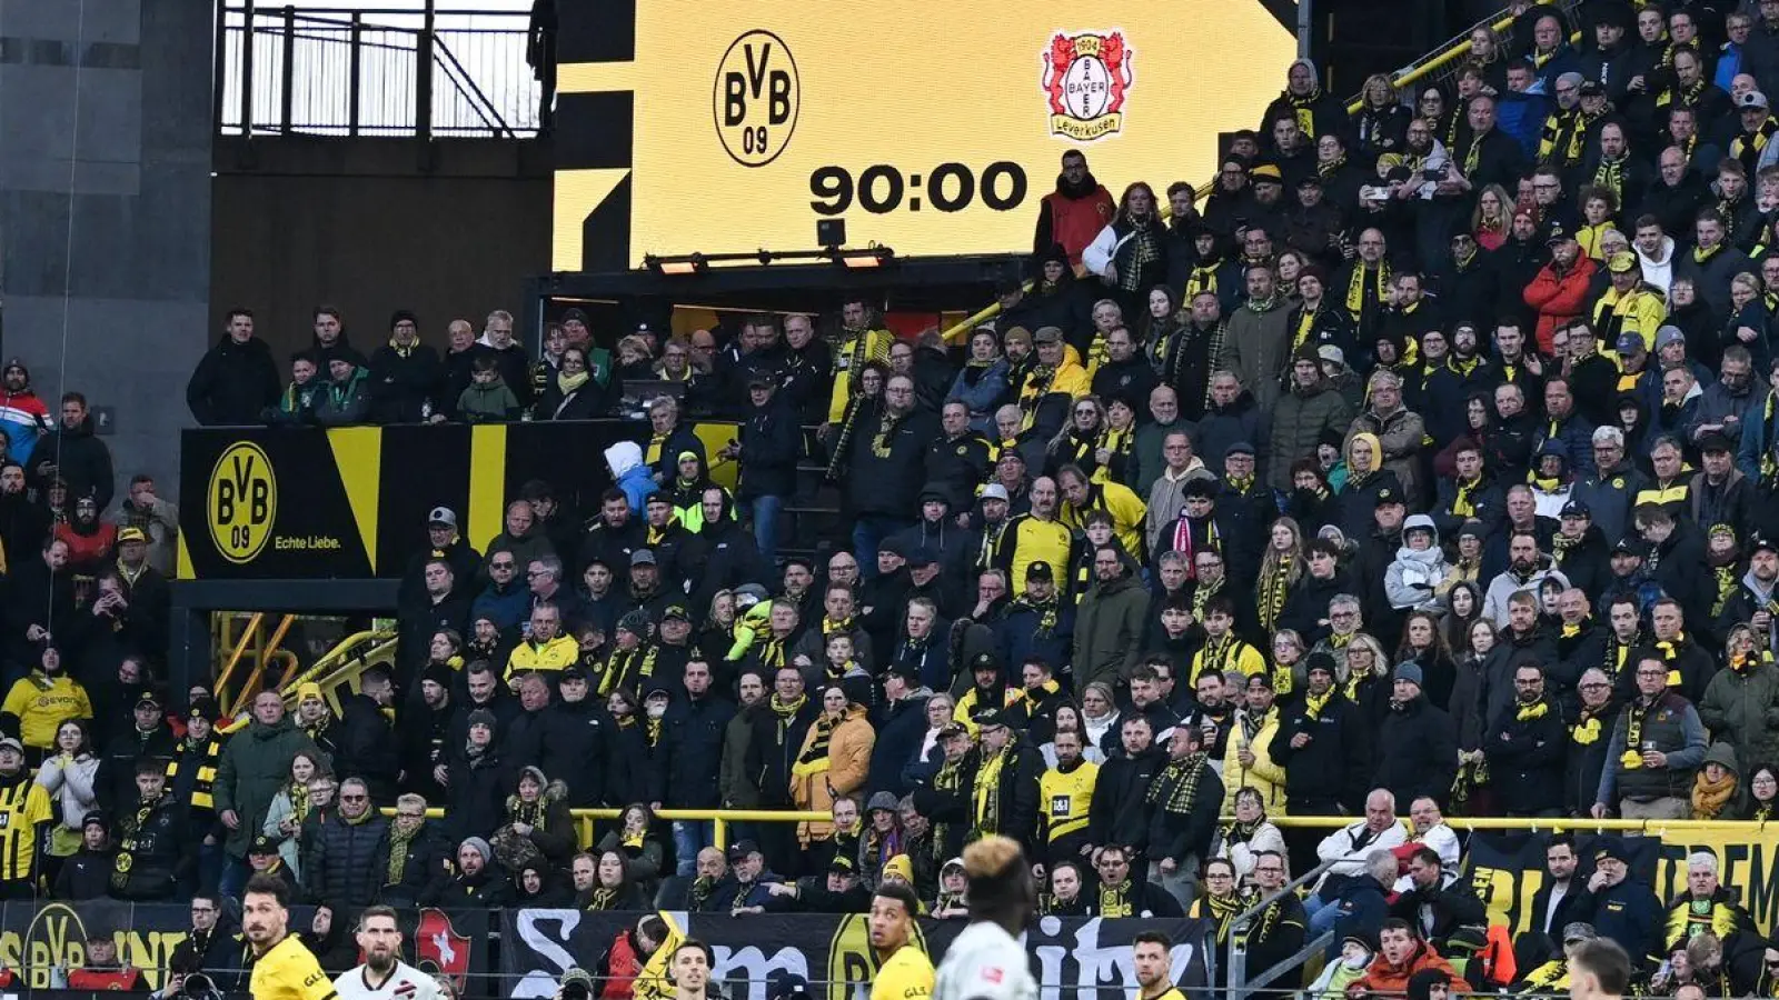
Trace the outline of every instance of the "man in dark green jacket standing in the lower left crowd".
<instances>
[{"instance_id":1,"label":"man in dark green jacket standing in the lower left crowd","mask_svg":"<svg viewBox=\"0 0 1779 1000\"><path fill-rule=\"evenodd\" d=\"M272 795L290 774L290 758L299 751L318 753L315 744L285 715L285 699L276 690L262 690L253 699L253 722L222 747L217 765L217 817L228 827L224 851L229 863L222 874L222 893L238 895L247 881L247 843L265 826Z\"/></svg>"}]
</instances>

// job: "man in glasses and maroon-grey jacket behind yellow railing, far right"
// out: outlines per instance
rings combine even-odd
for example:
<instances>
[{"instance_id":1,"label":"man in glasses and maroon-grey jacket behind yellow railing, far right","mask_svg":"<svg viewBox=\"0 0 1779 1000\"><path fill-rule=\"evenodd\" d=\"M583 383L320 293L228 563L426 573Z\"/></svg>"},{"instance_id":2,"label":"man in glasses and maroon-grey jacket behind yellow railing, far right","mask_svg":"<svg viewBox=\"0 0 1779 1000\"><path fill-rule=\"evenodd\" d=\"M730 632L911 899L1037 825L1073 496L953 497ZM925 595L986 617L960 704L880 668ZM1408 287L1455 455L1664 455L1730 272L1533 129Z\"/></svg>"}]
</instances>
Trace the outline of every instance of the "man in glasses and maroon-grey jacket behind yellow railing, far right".
<instances>
[{"instance_id":1,"label":"man in glasses and maroon-grey jacket behind yellow railing, far right","mask_svg":"<svg viewBox=\"0 0 1779 1000\"><path fill-rule=\"evenodd\" d=\"M1704 763L1704 724L1692 703L1669 689L1669 664L1660 653L1633 660L1637 699L1612 730L1594 819L1614 811L1624 819L1686 819L1692 776Z\"/></svg>"}]
</instances>

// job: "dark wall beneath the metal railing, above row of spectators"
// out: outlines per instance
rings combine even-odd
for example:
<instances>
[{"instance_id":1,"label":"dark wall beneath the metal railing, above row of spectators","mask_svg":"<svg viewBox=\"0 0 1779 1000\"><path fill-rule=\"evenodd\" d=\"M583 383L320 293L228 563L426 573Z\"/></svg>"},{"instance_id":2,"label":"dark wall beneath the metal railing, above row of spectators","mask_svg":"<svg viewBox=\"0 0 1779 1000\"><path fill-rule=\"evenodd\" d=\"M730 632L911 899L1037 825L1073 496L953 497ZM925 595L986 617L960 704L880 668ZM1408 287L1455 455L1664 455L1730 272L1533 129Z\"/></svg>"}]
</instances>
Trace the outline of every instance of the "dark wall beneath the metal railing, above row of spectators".
<instances>
[{"instance_id":1,"label":"dark wall beneath the metal railing, above row of spectators","mask_svg":"<svg viewBox=\"0 0 1779 1000\"><path fill-rule=\"evenodd\" d=\"M550 149L537 141L219 137L210 327L247 306L285 358L310 343L310 313L345 313L370 354L388 319L420 335L503 308L550 267Z\"/></svg>"}]
</instances>

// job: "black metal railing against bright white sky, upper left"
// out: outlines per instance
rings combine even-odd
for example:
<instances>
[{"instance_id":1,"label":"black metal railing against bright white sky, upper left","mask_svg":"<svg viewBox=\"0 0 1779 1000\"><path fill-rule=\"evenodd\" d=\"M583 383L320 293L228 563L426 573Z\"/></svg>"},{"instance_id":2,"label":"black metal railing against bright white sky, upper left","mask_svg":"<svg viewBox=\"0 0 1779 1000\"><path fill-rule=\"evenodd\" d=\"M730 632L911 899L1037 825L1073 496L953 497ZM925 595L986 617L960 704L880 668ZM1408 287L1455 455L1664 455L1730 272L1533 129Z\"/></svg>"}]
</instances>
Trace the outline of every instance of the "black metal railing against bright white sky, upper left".
<instances>
[{"instance_id":1,"label":"black metal railing against bright white sky, upper left","mask_svg":"<svg viewBox=\"0 0 1779 1000\"><path fill-rule=\"evenodd\" d=\"M537 133L541 85L514 11L228 5L217 18L221 135Z\"/></svg>"}]
</instances>

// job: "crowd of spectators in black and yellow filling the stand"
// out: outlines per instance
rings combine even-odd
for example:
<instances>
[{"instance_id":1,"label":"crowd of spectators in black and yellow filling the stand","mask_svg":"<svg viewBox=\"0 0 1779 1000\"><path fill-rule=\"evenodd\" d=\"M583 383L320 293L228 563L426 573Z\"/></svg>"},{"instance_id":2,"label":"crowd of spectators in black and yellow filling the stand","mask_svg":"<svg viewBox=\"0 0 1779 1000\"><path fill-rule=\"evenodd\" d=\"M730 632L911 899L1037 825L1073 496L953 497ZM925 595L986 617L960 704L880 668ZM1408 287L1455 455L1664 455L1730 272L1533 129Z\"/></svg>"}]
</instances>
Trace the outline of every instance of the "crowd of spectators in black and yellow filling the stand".
<instances>
[{"instance_id":1,"label":"crowd of spectators in black and yellow filling the stand","mask_svg":"<svg viewBox=\"0 0 1779 1000\"><path fill-rule=\"evenodd\" d=\"M649 431L607 450L601 496L528 482L491 539L432 509L395 664L338 705L262 694L224 738L208 690L169 712L151 653L117 655L158 635L135 614L153 484L96 596L62 584L110 491L64 400L60 466L0 466L9 580L34 575L9 591L34 669L0 802L41 833L0 890L213 904L270 872L329 911L777 913L902 881L962 916L961 849L994 833L1044 913L1201 915L1220 950L1332 863L1249 940L1252 970L1343 931L1327 989L1414 995L1457 954L1453 989L1555 988L1610 938L1658 993L1770 996L1779 948L1710 854L1663 907L1626 842L1557 838L1501 947L1445 820L1774 819L1779 0L1720 7L1517 4L1450 89L1379 77L1356 114L1299 60L1203 206L1114 199L1071 151L1030 279L959 345L854 299L610 352L571 310L537 359L503 311L443 356L397 311L366 359L320 308L279 390L233 311L189 386L201 423L628 399ZM12 365L5 388L21 411ZM733 443L706 454L692 409ZM813 557L779 544L811 468L850 532ZM623 819L589 838L592 806ZM731 824L722 851L664 808L820 819Z\"/></svg>"}]
</instances>

